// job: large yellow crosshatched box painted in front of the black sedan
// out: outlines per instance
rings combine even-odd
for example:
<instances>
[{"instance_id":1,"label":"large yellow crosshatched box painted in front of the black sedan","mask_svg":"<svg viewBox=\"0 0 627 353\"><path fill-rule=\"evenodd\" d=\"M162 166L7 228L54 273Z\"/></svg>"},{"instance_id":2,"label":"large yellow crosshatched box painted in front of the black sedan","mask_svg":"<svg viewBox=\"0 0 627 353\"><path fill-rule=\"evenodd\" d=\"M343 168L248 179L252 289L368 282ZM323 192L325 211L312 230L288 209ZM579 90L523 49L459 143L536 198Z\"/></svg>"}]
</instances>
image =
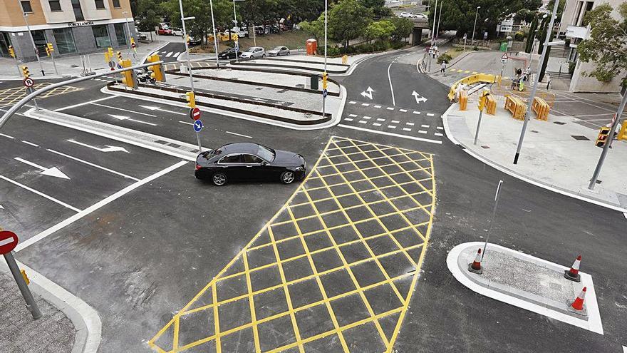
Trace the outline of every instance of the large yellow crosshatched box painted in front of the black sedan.
<instances>
[{"instance_id":1,"label":"large yellow crosshatched box painted in front of the black sedan","mask_svg":"<svg viewBox=\"0 0 627 353\"><path fill-rule=\"evenodd\" d=\"M149 344L393 352L434 207L432 155L332 137L276 215Z\"/></svg>"}]
</instances>

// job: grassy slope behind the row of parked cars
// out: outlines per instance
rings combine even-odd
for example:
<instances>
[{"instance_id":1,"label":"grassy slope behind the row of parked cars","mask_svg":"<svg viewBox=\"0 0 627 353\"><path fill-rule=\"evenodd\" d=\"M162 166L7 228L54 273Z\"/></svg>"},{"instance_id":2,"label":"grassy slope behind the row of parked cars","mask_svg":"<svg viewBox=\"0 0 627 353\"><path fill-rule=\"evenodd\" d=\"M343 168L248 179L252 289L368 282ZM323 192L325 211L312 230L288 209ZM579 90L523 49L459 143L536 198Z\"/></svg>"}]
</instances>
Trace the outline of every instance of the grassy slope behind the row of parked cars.
<instances>
[{"instance_id":1,"label":"grassy slope behind the row of parked cars","mask_svg":"<svg viewBox=\"0 0 627 353\"><path fill-rule=\"evenodd\" d=\"M266 34L265 36L257 36L257 46L262 46L266 51L274 48L275 46L286 46L290 49L305 48L305 41L310 39L311 36L306 34L305 31L285 31L280 34ZM235 46L232 41L224 41L219 43L219 51L224 48L232 48ZM239 39L239 48L245 51L250 46L254 46L254 40L252 37ZM207 46L195 46L190 51L192 53L213 53L213 43L209 43Z\"/></svg>"}]
</instances>

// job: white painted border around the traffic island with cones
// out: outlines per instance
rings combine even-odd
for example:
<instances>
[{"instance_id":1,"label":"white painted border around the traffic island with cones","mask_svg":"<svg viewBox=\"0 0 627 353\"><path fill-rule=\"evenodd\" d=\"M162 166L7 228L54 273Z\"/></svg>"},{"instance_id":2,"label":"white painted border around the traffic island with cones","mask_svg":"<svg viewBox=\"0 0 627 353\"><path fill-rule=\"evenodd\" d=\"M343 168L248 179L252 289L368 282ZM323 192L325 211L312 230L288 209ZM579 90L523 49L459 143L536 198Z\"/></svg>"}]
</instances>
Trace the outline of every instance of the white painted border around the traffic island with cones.
<instances>
[{"instance_id":1,"label":"white painted border around the traffic island with cones","mask_svg":"<svg viewBox=\"0 0 627 353\"><path fill-rule=\"evenodd\" d=\"M581 327L582 329L587 329L592 332L596 332L598 334L603 334L603 325L601 324L601 314L598 312L598 304L596 302L596 292L594 291L594 284L592 283L592 276L588 275L584 272L579 272L581 275L581 287L588 287L586 291L586 310L588 312L588 319L579 319L574 316L570 316L568 314L564 314L562 312L558 312L554 309L549 309L548 307L543 307L541 305L537 305L533 302L528 302L527 300L519 299L518 297L514 297L512 295L504 294L503 292L498 292L496 290L492 290L487 287L483 287L482 285L477 284L470 279L465 273L462 272L460 266L457 262L462 251L467 250L469 247L483 247L484 242L465 242L456 247L453 247L450 250L447 258L446 265L448 270L452 273L453 277L457 281L459 281L462 285L465 285L470 290L479 293L480 295L484 295L486 297L490 297L494 300L498 300L499 302L504 302L509 305L514 305L514 307L520 307L522 309L529 310L531 312L536 312L537 314L544 315L546 317L551 317L552 319L559 320L561 322L566 322L567 324L574 325L576 327ZM500 245L490 243L488 248L499 248L506 252L514 252L516 257L522 257L529 262L533 262L537 265L542 265L544 267L549 267L554 270L564 271L569 270L569 267L565 267L562 265L555 264L553 262L549 262L546 260L539 259L538 257L534 257L532 255L524 254L523 252L518 252L516 250L509 249L507 247L502 247Z\"/></svg>"}]
</instances>

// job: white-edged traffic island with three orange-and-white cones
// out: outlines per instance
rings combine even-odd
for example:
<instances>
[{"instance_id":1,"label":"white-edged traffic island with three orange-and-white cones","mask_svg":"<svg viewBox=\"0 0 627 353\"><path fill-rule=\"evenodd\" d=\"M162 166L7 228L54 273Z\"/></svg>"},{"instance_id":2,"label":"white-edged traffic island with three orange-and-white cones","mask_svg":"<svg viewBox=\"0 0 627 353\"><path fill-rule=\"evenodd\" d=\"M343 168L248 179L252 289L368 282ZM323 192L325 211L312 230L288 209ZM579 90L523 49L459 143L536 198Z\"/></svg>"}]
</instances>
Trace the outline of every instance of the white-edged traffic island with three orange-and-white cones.
<instances>
[{"instance_id":1,"label":"white-edged traffic island with three orange-and-white cones","mask_svg":"<svg viewBox=\"0 0 627 353\"><path fill-rule=\"evenodd\" d=\"M579 272L581 282L564 278L569 267L488 243L480 261L481 274L469 270L484 242L465 242L452 248L447 267L462 285L481 295L552 319L603 334L592 277ZM586 290L584 290L584 287ZM582 290L583 309L573 308ZM576 307L577 305L575 305Z\"/></svg>"}]
</instances>

